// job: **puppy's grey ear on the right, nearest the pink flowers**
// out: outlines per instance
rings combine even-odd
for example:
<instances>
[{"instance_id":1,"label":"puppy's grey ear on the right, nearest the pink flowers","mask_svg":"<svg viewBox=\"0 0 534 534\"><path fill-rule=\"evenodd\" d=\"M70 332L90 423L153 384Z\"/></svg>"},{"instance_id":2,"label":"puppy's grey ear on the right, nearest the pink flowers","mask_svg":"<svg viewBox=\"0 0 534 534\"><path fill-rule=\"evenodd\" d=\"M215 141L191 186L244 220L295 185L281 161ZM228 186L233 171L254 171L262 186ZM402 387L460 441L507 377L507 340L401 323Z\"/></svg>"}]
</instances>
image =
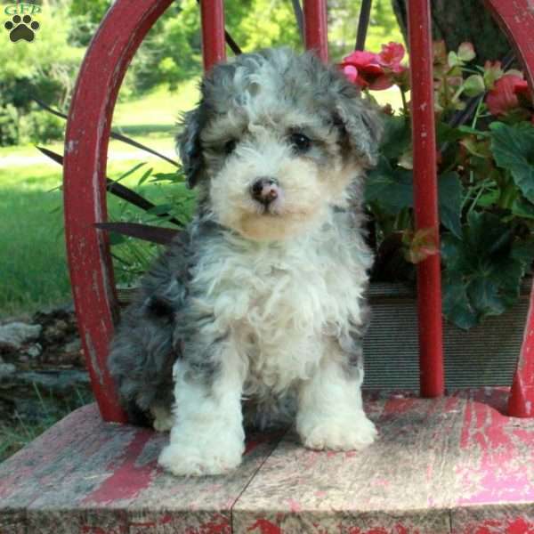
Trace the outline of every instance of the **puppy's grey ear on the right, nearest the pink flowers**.
<instances>
[{"instance_id":1,"label":"puppy's grey ear on the right, nearest the pink flowers","mask_svg":"<svg viewBox=\"0 0 534 534\"><path fill-rule=\"evenodd\" d=\"M336 92L334 122L342 128L344 142L365 167L376 165L383 127L379 110L360 97L353 85L341 85Z\"/></svg>"}]
</instances>

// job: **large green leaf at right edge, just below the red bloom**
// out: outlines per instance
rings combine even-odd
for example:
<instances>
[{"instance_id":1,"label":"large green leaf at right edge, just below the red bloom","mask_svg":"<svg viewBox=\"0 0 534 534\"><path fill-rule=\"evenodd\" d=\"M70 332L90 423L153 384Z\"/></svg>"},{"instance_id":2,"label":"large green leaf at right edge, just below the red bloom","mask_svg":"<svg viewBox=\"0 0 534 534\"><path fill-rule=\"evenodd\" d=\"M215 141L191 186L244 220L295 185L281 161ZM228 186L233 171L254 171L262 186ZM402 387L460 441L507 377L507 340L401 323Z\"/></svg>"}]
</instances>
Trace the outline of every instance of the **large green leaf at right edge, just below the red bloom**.
<instances>
[{"instance_id":1,"label":"large green leaf at right edge, just below the red bloom","mask_svg":"<svg viewBox=\"0 0 534 534\"><path fill-rule=\"evenodd\" d=\"M510 171L522 194L534 202L534 126L494 122L490 129L491 151L497 165Z\"/></svg>"}]
</instances>

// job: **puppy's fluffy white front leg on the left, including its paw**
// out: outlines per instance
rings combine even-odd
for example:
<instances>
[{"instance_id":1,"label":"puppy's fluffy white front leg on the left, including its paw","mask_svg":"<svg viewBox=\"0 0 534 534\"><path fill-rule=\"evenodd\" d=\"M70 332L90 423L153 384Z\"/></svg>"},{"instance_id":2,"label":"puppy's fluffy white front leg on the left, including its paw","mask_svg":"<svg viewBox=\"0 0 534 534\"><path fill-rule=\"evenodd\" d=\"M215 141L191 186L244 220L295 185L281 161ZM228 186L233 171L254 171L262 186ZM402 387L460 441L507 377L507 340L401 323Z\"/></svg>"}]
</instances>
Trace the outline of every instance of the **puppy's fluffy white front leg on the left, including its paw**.
<instances>
[{"instance_id":1,"label":"puppy's fluffy white front leg on the left, including its paw","mask_svg":"<svg viewBox=\"0 0 534 534\"><path fill-rule=\"evenodd\" d=\"M226 473L245 449L239 354L224 340L204 358L201 368L187 358L174 364L174 425L158 462L177 475Z\"/></svg>"}]
</instances>

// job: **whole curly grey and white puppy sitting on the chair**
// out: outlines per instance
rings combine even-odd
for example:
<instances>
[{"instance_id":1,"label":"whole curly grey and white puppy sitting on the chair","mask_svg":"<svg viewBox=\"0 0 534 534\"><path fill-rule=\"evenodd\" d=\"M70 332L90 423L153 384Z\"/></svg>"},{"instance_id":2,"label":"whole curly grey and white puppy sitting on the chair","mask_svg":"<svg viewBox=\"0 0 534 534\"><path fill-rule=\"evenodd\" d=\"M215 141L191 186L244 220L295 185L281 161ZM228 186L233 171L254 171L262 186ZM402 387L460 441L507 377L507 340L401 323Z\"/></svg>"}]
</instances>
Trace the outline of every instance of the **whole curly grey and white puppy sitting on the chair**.
<instances>
[{"instance_id":1,"label":"whole curly grey and white puppy sitting on the chair","mask_svg":"<svg viewBox=\"0 0 534 534\"><path fill-rule=\"evenodd\" d=\"M379 132L370 103L312 53L242 54L207 73L179 137L197 214L143 279L109 358L131 417L171 429L167 470L239 465L243 400L263 423L295 406L311 449L375 439L360 392L362 181Z\"/></svg>"}]
</instances>

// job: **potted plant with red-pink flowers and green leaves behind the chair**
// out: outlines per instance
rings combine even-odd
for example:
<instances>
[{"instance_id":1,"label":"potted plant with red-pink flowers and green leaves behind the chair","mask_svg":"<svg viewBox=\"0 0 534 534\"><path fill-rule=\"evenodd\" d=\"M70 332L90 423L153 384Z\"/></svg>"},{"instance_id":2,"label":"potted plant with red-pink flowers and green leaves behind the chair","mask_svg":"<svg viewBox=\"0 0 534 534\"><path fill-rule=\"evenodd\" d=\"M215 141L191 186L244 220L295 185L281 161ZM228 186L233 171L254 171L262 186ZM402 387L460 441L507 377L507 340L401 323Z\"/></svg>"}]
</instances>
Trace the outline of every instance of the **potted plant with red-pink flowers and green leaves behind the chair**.
<instances>
[{"instance_id":1,"label":"potted plant with red-pink flowers and green leaves behind the chair","mask_svg":"<svg viewBox=\"0 0 534 534\"><path fill-rule=\"evenodd\" d=\"M471 328L512 306L534 258L534 109L519 70L475 64L473 44L434 44L443 312ZM397 87L402 108L384 107L378 165L366 201L376 245L375 279L412 279L414 263L438 252L414 231L409 69L404 47L354 52L340 64L364 93ZM373 98L369 94L370 98Z\"/></svg>"}]
</instances>

